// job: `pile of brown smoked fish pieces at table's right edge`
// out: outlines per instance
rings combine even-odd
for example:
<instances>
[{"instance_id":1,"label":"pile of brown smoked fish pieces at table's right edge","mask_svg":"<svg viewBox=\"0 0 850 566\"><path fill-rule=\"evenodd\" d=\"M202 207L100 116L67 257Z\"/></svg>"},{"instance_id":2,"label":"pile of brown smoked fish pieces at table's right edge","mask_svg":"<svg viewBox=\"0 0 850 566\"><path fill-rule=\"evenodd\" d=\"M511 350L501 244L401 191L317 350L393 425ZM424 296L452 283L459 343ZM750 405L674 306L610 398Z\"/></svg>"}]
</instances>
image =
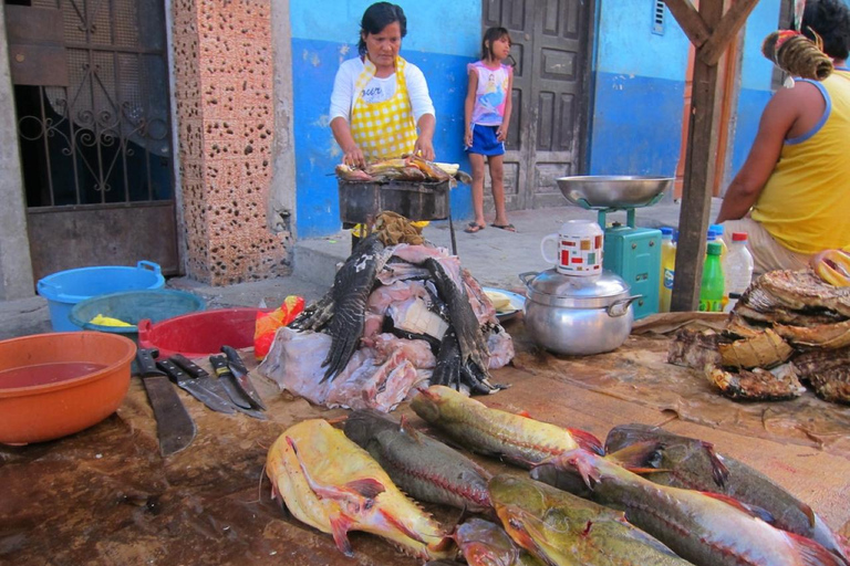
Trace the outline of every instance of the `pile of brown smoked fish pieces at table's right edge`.
<instances>
[{"instance_id":1,"label":"pile of brown smoked fish pieces at table's right edge","mask_svg":"<svg viewBox=\"0 0 850 566\"><path fill-rule=\"evenodd\" d=\"M667 360L705 371L733 399L792 399L805 381L825 400L850 403L850 286L812 269L766 273L724 332L681 331Z\"/></svg>"}]
</instances>

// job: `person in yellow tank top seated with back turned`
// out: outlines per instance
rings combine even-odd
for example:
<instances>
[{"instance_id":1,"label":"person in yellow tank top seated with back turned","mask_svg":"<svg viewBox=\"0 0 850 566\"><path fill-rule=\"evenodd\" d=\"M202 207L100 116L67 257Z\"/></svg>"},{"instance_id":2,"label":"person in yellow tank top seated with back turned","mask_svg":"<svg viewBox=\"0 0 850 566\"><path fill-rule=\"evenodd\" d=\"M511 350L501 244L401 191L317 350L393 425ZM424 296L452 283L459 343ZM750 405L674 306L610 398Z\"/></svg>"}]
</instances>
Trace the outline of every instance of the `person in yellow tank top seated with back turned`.
<instances>
[{"instance_id":1,"label":"person in yellow tank top seated with back turned","mask_svg":"<svg viewBox=\"0 0 850 566\"><path fill-rule=\"evenodd\" d=\"M801 269L826 249L850 250L850 9L842 0L809 0L801 28L810 39L820 35L835 71L774 95L716 220L726 232L749 234L756 273Z\"/></svg>"}]
</instances>

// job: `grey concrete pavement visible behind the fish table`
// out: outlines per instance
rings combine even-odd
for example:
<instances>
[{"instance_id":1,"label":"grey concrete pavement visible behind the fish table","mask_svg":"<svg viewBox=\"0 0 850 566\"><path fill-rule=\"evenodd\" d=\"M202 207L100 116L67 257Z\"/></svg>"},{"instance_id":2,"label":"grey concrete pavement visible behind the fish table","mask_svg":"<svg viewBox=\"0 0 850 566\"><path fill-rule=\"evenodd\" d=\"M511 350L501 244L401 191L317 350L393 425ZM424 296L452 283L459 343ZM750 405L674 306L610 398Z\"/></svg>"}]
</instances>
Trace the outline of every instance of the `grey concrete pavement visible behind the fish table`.
<instances>
[{"instance_id":1,"label":"grey concrete pavement visible behind the fish table","mask_svg":"<svg viewBox=\"0 0 850 566\"><path fill-rule=\"evenodd\" d=\"M714 199L712 216L717 216L721 200ZM678 227L681 207L675 202L662 202L654 207L636 210L639 227ZM475 234L464 232L467 221L455 222L455 241L462 264L486 286L520 291L522 283L518 274L528 271L543 271L551 265L540 255L540 241L549 233L557 232L570 219L597 219L594 211L564 206L539 210L522 210L509 213L517 232L507 232L488 226ZM488 216L491 221L491 216ZM607 221L625 223L624 212L608 214ZM437 245L450 249L448 221L432 222L424 231L425 237ZM296 245L294 272L291 276L252 283L240 283L224 287L201 285L187 277L173 277L167 286L182 289L203 296L208 308L227 306L276 306L287 295L303 296L308 302L319 298L333 283L336 264L344 261L351 251L351 237L340 232L331 237L302 240ZM46 301L40 296L0 302L0 339L50 332L50 314Z\"/></svg>"}]
</instances>

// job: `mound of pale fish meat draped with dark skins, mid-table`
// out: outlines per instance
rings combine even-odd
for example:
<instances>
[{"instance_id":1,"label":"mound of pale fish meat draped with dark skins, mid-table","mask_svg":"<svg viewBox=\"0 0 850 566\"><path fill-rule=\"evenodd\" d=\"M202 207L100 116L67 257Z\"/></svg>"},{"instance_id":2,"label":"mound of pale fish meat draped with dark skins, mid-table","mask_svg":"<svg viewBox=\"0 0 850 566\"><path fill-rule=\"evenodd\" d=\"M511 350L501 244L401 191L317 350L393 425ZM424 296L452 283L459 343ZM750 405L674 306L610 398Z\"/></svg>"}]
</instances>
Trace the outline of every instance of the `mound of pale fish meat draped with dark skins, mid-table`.
<instances>
[{"instance_id":1,"label":"mound of pale fish meat draped with dark skins, mid-table","mask_svg":"<svg viewBox=\"0 0 850 566\"><path fill-rule=\"evenodd\" d=\"M331 290L281 328L258 368L325 407L390 411L415 387L491 394L490 369L514 342L456 255L427 242L387 244L376 231Z\"/></svg>"}]
</instances>

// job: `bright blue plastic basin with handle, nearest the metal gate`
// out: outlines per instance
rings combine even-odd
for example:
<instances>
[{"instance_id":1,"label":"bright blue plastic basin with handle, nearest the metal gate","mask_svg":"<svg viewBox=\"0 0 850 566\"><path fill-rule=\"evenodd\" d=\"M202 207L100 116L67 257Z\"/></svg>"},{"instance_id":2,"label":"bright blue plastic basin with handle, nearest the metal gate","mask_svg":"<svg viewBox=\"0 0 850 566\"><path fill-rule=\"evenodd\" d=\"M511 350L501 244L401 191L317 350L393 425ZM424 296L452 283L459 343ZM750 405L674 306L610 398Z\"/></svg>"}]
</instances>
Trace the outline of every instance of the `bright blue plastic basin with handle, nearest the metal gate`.
<instances>
[{"instance_id":1,"label":"bright blue plastic basin with handle, nearest the metal gate","mask_svg":"<svg viewBox=\"0 0 850 566\"><path fill-rule=\"evenodd\" d=\"M139 261L135 268L97 266L60 271L39 280L38 291L48 300L50 322L55 332L80 331L71 322L71 308L86 298L121 291L163 289L159 265Z\"/></svg>"}]
</instances>

